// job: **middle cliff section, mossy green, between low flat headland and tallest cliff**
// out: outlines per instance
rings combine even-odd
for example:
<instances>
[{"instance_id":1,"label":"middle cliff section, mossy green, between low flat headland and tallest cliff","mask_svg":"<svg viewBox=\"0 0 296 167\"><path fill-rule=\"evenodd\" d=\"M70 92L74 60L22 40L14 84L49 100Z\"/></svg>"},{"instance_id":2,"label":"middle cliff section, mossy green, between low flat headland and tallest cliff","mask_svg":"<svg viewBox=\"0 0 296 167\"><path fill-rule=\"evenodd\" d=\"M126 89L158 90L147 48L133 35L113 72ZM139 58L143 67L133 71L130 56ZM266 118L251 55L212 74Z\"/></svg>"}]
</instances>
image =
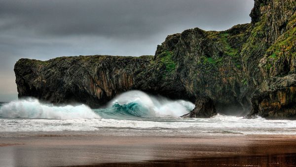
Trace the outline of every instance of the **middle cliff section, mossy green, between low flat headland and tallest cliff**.
<instances>
[{"instance_id":1,"label":"middle cliff section, mossy green, between low flat headland and tallest cliff","mask_svg":"<svg viewBox=\"0 0 296 167\"><path fill-rule=\"evenodd\" d=\"M180 80L186 96L208 96L220 112L248 111L251 103L242 94L246 83L240 52L250 28L250 24L244 24L222 32L186 30L168 36L157 47L154 59L170 53L175 63L170 75Z\"/></svg>"}]
</instances>

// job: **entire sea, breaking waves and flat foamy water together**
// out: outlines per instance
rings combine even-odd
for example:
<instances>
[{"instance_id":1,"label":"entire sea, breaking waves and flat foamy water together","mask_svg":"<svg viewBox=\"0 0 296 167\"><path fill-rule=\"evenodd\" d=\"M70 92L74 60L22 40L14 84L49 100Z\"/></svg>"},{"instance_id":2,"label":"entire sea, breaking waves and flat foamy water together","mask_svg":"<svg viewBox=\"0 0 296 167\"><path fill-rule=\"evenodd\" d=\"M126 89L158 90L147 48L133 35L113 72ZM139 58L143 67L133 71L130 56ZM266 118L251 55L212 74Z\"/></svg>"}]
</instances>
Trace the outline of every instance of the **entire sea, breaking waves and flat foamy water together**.
<instances>
[{"instance_id":1,"label":"entire sea, breaking waves and flat foamy water together","mask_svg":"<svg viewBox=\"0 0 296 167\"><path fill-rule=\"evenodd\" d=\"M86 105L55 106L28 98L0 103L0 133L60 132L116 135L246 135L296 134L296 121L218 114L212 118L180 118L194 104L133 90L100 109Z\"/></svg>"}]
</instances>

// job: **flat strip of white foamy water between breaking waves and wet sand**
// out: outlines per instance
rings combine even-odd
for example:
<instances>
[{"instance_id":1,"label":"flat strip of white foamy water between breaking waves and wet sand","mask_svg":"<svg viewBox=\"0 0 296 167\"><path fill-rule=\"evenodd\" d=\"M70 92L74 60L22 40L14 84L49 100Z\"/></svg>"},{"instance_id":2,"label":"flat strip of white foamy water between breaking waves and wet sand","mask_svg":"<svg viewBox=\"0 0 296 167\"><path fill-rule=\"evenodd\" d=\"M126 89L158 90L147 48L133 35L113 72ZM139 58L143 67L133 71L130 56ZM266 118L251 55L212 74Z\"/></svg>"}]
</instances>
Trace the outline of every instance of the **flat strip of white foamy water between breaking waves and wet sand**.
<instances>
[{"instance_id":1,"label":"flat strip of white foamy water between breaking waves and wet sand","mask_svg":"<svg viewBox=\"0 0 296 167\"><path fill-rule=\"evenodd\" d=\"M15 131L119 131L152 135L296 134L296 121L243 119L217 115L209 119L0 119L0 132Z\"/></svg>"}]
</instances>

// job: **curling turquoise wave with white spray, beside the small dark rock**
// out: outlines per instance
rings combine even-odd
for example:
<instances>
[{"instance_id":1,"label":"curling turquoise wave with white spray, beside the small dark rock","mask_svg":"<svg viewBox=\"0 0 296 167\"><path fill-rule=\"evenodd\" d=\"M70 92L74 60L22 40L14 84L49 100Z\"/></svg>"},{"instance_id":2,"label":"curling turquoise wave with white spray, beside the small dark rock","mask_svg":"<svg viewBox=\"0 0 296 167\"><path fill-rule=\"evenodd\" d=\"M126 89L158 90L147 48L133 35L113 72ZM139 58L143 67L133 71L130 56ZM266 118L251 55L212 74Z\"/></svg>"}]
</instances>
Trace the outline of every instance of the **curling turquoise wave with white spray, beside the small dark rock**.
<instances>
[{"instance_id":1,"label":"curling turquoise wave with white spray, beside the small dark rock","mask_svg":"<svg viewBox=\"0 0 296 167\"><path fill-rule=\"evenodd\" d=\"M109 108L118 114L138 117L180 117L194 108L194 104L185 100L169 100L164 97L148 95L139 90L131 90L115 97ZM104 112L104 111L103 111Z\"/></svg>"}]
</instances>

